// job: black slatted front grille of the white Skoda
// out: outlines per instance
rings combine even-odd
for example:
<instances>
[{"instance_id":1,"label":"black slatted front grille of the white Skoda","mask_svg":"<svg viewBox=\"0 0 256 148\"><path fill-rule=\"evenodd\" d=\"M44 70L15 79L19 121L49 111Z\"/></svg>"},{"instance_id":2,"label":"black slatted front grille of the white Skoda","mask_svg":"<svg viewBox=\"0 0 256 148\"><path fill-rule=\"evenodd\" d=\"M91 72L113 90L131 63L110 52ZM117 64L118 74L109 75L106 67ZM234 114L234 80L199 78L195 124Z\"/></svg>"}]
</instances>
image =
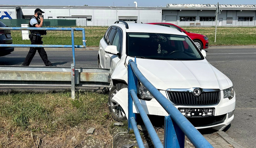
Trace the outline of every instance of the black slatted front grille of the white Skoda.
<instances>
[{"instance_id":1,"label":"black slatted front grille of the white Skoda","mask_svg":"<svg viewBox=\"0 0 256 148\"><path fill-rule=\"evenodd\" d=\"M220 94L220 91L213 91L194 96L191 92L168 91L168 97L173 104L186 106L215 105L221 99Z\"/></svg>"}]
</instances>

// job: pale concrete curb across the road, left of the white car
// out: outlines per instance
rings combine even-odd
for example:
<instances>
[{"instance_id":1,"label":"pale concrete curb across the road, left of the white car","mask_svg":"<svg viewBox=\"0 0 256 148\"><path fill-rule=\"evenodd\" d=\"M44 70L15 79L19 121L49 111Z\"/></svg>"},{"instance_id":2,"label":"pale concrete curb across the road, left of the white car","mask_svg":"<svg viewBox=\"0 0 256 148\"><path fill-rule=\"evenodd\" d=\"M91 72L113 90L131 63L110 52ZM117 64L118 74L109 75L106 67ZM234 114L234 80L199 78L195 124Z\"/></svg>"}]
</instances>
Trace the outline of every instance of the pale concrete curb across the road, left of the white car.
<instances>
[{"instance_id":1,"label":"pale concrete curb across the road, left of the white car","mask_svg":"<svg viewBox=\"0 0 256 148\"><path fill-rule=\"evenodd\" d=\"M72 50L72 48L44 48L46 51ZM75 50L99 50L99 47L75 48ZM29 48L15 47L14 51L29 51Z\"/></svg>"}]
</instances>

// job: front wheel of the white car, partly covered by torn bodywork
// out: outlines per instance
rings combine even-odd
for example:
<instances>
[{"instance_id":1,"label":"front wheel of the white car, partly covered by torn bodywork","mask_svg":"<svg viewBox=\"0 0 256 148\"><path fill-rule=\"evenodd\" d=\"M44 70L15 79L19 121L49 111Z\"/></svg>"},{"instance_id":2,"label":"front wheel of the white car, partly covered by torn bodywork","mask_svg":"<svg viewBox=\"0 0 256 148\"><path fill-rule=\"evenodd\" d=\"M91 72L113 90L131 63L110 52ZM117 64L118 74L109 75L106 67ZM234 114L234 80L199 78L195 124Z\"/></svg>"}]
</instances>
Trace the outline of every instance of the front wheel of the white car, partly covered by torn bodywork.
<instances>
[{"instance_id":1,"label":"front wheel of the white car, partly covered by torn bodywork","mask_svg":"<svg viewBox=\"0 0 256 148\"><path fill-rule=\"evenodd\" d=\"M127 118L124 109L112 98L119 90L123 88L128 88L128 86L126 84L118 83L117 85L114 85L109 92L109 111L114 120L118 122L126 121Z\"/></svg>"}]
</instances>

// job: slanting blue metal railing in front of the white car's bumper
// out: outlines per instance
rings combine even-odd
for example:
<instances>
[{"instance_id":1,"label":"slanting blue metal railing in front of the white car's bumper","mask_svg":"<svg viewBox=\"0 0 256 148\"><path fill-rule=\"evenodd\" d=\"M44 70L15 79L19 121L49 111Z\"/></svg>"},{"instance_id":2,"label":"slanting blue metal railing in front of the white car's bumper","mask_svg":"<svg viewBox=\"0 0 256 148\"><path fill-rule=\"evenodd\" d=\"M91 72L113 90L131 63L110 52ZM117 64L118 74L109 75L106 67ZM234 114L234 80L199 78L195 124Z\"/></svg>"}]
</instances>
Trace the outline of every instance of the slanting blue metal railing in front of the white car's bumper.
<instances>
[{"instance_id":1,"label":"slanting blue metal railing in front of the white car's bumper","mask_svg":"<svg viewBox=\"0 0 256 148\"><path fill-rule=\"evenodd\" d=\"M163 145L137 97L138 80L169 114L169 116L165 116L165 135ZM182 113L143 76L137 67L136 58L135 62L129 60L128 64L128 129L133 129L139 147L144 148L144 144L141 140L136 124L137 115L134 114L132 110L133 102L137 107L152 143L156 148L184 148L185 135L196 148L213 148L203 135L187 120L187 118L184 117L184 115L182 115Z\"/></svg>"}]
</instances>

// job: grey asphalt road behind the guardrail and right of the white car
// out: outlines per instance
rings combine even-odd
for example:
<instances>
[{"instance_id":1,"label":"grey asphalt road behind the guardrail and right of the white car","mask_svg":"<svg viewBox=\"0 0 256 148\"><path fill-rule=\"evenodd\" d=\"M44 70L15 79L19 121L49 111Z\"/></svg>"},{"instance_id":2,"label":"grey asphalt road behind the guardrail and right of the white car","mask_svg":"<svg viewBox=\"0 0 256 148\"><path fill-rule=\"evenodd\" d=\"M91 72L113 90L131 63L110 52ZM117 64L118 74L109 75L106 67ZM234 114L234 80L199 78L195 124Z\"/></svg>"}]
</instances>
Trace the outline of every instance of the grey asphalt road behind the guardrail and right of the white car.
<instances>
[{"instance_id":1,"label":"grey asphalt road behind the guardrail and right of the white car","mask_svg":"<svg viewBox=\"0 0 256 148\"><path fill-rule=\"evenodd\" d=\"M207 49L207 60L233 82L236 91L235 118L226 133L241 146L254 148L256 140L256 47ZM46 50L47 51L47 50ZM77 67L97 67L97 50L76 51ZM69 67L72 51L47 51L48 59L58 66ZM20 65L27 51L14 51L0 57L0 65ZM44 65L38 53L31 65Z\"/></svg>"}]
</instances>

